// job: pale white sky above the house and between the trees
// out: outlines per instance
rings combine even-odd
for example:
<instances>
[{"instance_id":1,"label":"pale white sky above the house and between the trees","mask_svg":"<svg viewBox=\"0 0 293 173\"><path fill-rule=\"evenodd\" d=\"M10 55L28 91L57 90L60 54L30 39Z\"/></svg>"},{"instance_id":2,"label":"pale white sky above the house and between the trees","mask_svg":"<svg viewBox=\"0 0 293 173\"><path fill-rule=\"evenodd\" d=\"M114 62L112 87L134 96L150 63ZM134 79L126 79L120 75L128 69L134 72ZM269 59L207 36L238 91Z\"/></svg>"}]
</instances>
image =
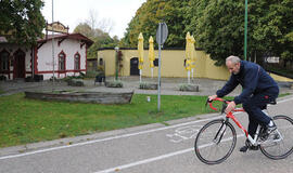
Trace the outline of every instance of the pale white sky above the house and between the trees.
<instances>
[{"instance_id":1,"label":"pale white sky above the house and between the trees","mask_svg":"<svg viewBox=\"0 0 293 173\"><path fill-rule=\"evenodd\" d=\"M90 18L97 19L95 27L104 27L111 37L124 37L126 28L137 10L146 0L53 0L53 18L69 27L69 32L79 24ZM52 23L52 0L43 0L41 12L48 23ZM103 25L103 24L105 25ZM109 26L112 26L110 29Z\"/></svg>"}]
</instances>

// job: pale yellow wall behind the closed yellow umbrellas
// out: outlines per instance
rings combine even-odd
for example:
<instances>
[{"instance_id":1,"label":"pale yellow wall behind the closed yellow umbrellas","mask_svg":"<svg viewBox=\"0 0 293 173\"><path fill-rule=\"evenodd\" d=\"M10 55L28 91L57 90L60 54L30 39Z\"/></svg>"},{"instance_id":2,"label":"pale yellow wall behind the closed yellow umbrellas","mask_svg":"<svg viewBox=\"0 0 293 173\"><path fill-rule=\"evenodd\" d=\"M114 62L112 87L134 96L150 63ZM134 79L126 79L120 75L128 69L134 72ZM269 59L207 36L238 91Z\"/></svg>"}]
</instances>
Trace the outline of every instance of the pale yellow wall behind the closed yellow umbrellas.
<instances>
[{"instance_id":1,"label":"pale yellow wall behind the closed yellow umbrellas","mask_svg":"<svg viewBox=\"0 0 293 173\"><path fill-rule=\"evenodd\" d=\"M119 76L130 76L130 59L138 57L138 50L120 50L123 53L123 69ZM144 62L142 68L143 77L151 77L150 61L148 57L149 50L144 50ZM187 78L188 72L183 66L184 63L184 50L162 50L162 77L179 77ZM209 78L227 80L230 77L226 66L217 67L214 65L214 61L209 58L203 51L195 51L195 68L194 77L196 78ZM155 50L155 57L158 57L158 51ZM100 50L98 51L98 64L99 59L103 58L105 62L105 75L115 76L115 50ZM293 81L292 79L283 78L277 75L271 75L278 81ZM157 67L154 67L154 77L157 77Z\"/></svg>"}]
</instances>

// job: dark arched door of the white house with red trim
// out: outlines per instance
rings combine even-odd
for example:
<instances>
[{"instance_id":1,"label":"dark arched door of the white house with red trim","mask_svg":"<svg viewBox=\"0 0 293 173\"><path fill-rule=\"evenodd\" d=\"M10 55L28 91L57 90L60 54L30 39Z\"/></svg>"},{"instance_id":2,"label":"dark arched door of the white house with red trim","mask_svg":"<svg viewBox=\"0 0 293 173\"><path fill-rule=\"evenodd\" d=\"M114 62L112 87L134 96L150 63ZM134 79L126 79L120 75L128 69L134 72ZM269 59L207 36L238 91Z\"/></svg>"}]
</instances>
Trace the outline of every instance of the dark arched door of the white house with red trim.
<instances>
[{"instance_id":1,"label":"dark arched door of the white house with red trim","mask_svg":"<svg viewBox=\"0 0 293 173\"><path fill-rule=\"evenodd\" d=\"M18 50L14 53L13 79L25 78L25 53Z\"/></svg>"}]
</instances>

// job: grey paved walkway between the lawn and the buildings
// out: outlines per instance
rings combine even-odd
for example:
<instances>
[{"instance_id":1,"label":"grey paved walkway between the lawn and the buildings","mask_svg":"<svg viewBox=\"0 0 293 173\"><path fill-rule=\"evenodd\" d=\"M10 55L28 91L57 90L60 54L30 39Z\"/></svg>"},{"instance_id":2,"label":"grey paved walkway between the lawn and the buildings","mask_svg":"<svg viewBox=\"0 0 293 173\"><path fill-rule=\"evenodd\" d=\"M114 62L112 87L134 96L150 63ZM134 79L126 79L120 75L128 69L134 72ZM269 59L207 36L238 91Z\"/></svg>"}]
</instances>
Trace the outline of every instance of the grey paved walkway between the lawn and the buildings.
<instances>
[{"instance_id":1,"label":"grey paved walkway between the lawn and the buildings","mask_svg":"<svg viewBox=\"0 0 293 173\"><path fill-rule=\"evenodd\" d=\"M113 77L107 77L107 81L113 81ZM63 81L41 81L41 82L24 82L23 80L0 81L0 90L4 94L10 95L24 91L52 91L52 90L76 90L76 91L91 91L91 92L129 92L135 91L137 94L157 94L157 90L141 90L139 89L139 77L120 77L124 88L105 88L103 84L97 83L94 85L92 80L85 80L85 86L68 86ZM157 78L142 78L142 82L157 83ZM162 95L212 95L221 88L226 81L195 78L191 83L200 86L200 92L182 92L179 86L187 83L187 78L162 78L161 79L161 94ZM281 93L293 93L290 88L280 85ZM234 96L241 92L241 86L238 86L230 95Z\"/></svg>"}]
</instances>

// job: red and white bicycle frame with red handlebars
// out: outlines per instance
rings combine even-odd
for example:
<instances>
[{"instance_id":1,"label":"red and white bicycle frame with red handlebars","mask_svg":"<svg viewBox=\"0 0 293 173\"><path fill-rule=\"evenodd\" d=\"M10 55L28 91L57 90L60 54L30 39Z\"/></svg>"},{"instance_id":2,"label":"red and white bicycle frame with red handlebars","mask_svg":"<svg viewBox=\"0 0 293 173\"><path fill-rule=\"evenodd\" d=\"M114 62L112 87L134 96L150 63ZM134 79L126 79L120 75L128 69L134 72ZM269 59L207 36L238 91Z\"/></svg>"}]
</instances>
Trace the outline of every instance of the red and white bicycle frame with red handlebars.
<instances>
[{"instance_id":1,"label":"red and white bicycle frame with red handlebars","mask_svg":"<svg viewBox=\"0 0 293 173\"><path fill-rule=\"evenodd\" d=\"M229 103L230 103L230 102L225 101L225 99L219 98L219 97L215 98L214 101L220 101L220 102L224 102L224 103L226 103L226 104L229 104ZM217 108L215 108L215 107L213 106L212 102L209 102L208 104L209 104L209 107L211 107L212 109L218 110ZM229 121L229 119L232 119L232 120L235 122L235 124L244 132L245 136L249 138L249 141L251 142L251 144L254 145L254 146L257 146L258 143L257 143L256 141L257 141L257 138L258 138L258 134L259 134L259 131L260 131L260 125L257 127L256 133L255 133L254 137L252 137L252 136L249 134L247 130L246 130L246 129L240 123L240 121L234 117L234 115L232 114L233 111L243 111L243 112L245 112L245 110L244 110L243 108L235 108L235 109L233 109L232 111L230 111L230 112L228 112L228 114L226 112L226 121Z\"/></svg>"}]
</instances>

